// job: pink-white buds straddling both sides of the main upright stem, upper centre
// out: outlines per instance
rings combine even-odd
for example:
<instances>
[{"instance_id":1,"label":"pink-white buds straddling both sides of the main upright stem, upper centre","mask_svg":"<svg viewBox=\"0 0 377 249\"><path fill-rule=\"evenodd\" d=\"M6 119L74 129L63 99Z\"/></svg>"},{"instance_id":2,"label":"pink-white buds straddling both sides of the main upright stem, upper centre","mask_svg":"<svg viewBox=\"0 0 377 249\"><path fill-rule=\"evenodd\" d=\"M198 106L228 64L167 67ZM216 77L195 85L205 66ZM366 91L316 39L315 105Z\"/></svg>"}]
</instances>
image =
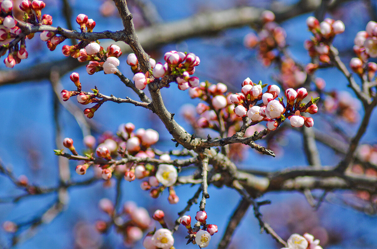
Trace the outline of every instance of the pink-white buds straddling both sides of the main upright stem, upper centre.
<instances>
[{"instance_id":1,"label":"pink-white buds straddling both sides of the main upright stem, upper centre","mask_svg":"<svg viewBox=\"0 0 377 249\"><path fill-rule=\"evenodd\" d=\"M161 62L156 63L154 59L150 59L150 64L153 77L159 79L164 84L170 82L176 82L179 90L186 90L187 88L197 87L199 85L199 78L190 76L195 72L195 67L199 65L200 59L193 53L183 53L177 51L170 51L165 53L164 64ZM133 80L135 81L136 88L143 90L147 84L153 82L155 79L149 78L149 72L147 75L143 74L138 65L138 60L135 54L131 53L127 56L127 64L131 66L131 70L135 75Z\"/></svg>"}]
</instances>

